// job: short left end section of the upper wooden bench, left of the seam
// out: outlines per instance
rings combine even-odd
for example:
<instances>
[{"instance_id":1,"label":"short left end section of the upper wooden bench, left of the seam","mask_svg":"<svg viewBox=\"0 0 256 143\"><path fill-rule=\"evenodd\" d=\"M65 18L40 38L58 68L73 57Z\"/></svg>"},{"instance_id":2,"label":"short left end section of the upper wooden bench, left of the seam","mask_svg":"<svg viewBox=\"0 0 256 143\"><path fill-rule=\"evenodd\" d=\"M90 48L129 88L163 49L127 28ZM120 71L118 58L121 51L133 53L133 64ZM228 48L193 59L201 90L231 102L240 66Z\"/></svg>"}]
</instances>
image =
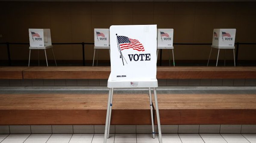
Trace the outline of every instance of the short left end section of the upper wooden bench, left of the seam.
<instances>
[{"instance_id":1,"label":"short left end section of the upper wooden bench, left of the seam","mask_svg":"<svg viewBox=\"0 0 256 143\"><path fill-rule=\"evenodd\" d=\"M25 69L28 67L0 67L0 79L23 79Z\"/></svg>"}]
</instances>

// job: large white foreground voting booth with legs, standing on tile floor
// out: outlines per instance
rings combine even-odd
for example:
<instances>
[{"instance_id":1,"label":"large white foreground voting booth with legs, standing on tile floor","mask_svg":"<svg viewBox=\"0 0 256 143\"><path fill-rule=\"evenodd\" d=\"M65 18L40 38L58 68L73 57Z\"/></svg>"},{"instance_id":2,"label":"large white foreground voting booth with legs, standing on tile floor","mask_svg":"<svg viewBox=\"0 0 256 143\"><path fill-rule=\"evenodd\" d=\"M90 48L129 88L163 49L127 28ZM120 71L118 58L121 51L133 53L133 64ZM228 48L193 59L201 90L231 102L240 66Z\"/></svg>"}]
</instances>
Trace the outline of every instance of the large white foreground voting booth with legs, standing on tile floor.
<instances>
[{"instance_id":1,"label":"large white foreground voting booth with legs, standing on tile floor","mask_svg":"<svg viewBox=\"0 0 256 143\"><path fill-rule=\"evenodd\" d=\"M152 134L155 138L151 88L154 89L159 142L162 143L156 87L157 25L113 25L110 27L111 73L108 78L108 108L105 125L109 137L114 88L148 88Z\"/></svg>"}]
</instances>

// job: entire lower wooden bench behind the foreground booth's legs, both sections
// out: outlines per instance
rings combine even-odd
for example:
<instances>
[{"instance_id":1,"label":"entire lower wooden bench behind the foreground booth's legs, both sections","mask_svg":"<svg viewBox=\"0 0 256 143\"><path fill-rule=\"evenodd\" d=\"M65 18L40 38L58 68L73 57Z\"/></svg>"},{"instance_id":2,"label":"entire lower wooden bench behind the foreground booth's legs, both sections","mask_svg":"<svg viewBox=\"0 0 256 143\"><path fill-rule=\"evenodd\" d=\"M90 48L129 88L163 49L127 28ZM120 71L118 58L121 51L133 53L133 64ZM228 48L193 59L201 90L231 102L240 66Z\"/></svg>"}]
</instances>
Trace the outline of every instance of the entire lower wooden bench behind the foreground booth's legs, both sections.
<instances>
[{"instance_id":1,"label":"entire lower wooden bench behind the foreground booth's legs, both sections","mask_svg":"<svg viewBox=\"0 0 256 143\"><path fill-rule=\"evenodd\" d=\"M147 94L114 96L111 124L151 124ZM107 98L107 94L0 95L0 125L102 125ZM158 104L162 125L256 124L254 94L158 94Z\"/></svg>"}]
</instances>

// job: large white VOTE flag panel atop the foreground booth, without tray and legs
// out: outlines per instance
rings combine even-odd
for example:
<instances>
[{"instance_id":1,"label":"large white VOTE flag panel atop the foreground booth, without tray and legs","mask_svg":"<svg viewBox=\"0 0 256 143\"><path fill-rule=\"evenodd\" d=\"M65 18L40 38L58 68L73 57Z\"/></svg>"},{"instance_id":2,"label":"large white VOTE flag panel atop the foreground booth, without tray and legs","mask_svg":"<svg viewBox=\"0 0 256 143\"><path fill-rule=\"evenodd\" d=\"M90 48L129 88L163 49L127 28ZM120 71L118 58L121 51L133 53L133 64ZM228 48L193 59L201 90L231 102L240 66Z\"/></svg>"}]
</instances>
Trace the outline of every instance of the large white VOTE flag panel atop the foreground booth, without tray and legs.
<instances>
[{"instance_id":1,"label":"large white VOTE flag panel atop the foreground booth, without tray and legs","mask_svg":"<svg viewBox=\"0 0 256 143\"><path fill-rule=\"evenodd\" d=\"M156 78L156 25L110 27L112 80ZM131 83L136 86L136 83Z\"/></svg>"}]
</instances>

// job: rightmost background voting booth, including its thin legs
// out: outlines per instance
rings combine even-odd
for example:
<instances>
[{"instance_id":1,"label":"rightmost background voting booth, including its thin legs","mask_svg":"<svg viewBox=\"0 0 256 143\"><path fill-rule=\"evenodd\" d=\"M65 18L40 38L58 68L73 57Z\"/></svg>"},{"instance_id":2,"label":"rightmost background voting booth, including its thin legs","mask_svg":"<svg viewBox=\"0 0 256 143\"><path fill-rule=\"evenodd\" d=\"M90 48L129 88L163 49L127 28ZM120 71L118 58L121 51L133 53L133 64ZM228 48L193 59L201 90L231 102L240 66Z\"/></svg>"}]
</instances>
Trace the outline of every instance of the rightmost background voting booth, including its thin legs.
<instances>
[{"instance_id":1,"label":"rightmost background voting booth, including its thin legs","mask_svg":"<svg viewBox=\"0 0 256 143\"><path fill-rule=\"evenodd\" d=\"M236 29L214 29L213 30L211 51L212 51L212 48L218 49L216 66L218 65L220 49L225 49L224 65L226 62L226 49L233 49L234 66L236 66L236 63L235 63L235 37L236 37ZM207 66L209 64L209 60L211 57L211 51L210 51L210 55L208 58Z\"/></svg>"}]
</instances>

